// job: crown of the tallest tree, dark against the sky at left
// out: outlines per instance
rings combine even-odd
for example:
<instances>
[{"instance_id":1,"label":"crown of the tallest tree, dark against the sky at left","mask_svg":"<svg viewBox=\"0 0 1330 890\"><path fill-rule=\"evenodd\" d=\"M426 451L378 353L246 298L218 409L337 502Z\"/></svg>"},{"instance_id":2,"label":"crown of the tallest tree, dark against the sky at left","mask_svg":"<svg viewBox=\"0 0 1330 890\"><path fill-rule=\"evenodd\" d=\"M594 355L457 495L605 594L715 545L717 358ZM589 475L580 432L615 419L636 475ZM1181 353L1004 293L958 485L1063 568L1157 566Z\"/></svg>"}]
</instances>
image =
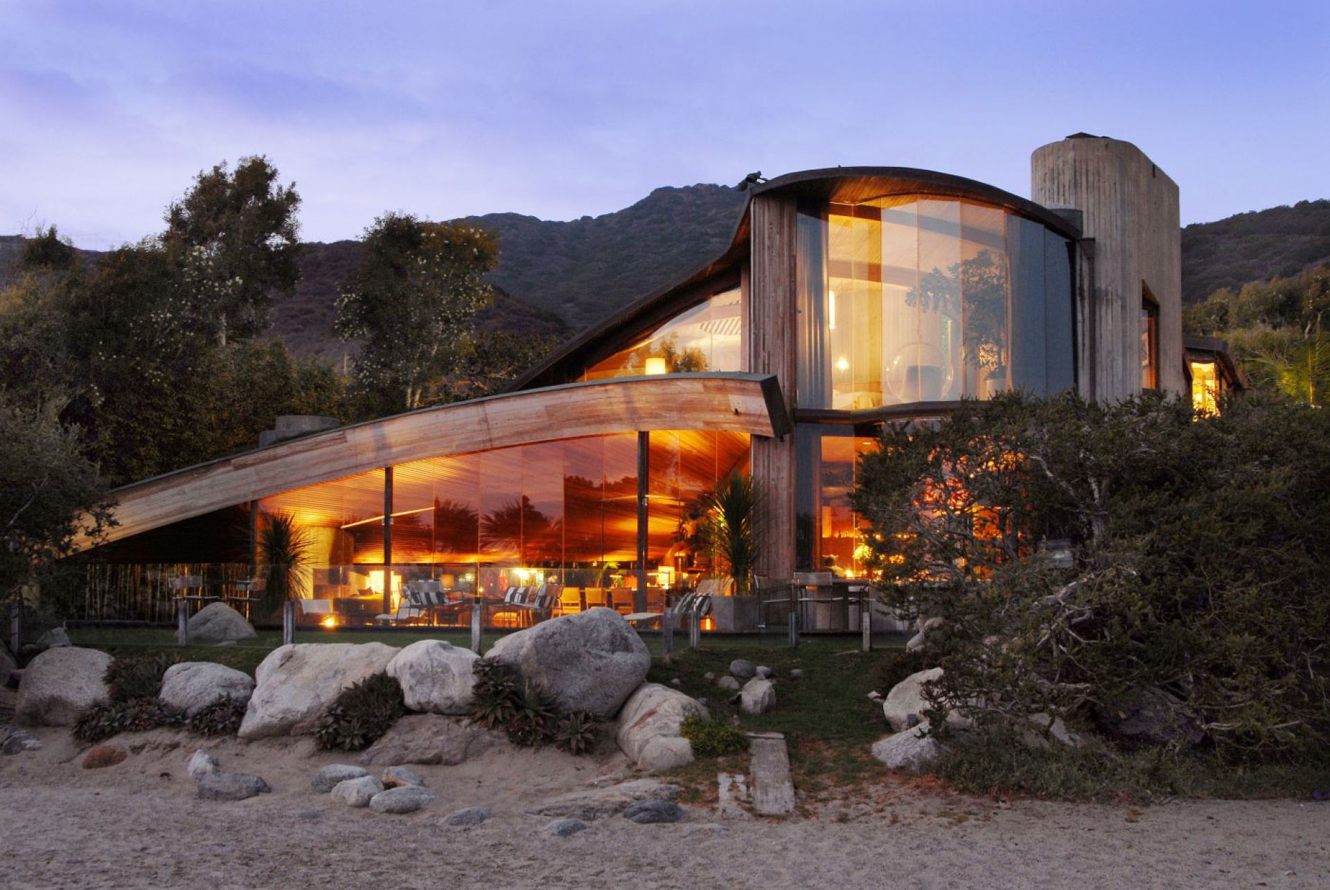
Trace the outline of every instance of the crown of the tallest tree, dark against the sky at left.
<instances>
[{"instance_id":1,"label":"crown of the tallest tree, dark against the sky at left","mask_svg":"<svg viewBox=\"0 0 1330 890\"><path fill-rule=\"evenodd\" d=\"M267 330L273 291L299 281L301 196L266 157L201 172L166 209L162 249L180 273L181 306L219 345Z\"/></svg>"}]
</instances>

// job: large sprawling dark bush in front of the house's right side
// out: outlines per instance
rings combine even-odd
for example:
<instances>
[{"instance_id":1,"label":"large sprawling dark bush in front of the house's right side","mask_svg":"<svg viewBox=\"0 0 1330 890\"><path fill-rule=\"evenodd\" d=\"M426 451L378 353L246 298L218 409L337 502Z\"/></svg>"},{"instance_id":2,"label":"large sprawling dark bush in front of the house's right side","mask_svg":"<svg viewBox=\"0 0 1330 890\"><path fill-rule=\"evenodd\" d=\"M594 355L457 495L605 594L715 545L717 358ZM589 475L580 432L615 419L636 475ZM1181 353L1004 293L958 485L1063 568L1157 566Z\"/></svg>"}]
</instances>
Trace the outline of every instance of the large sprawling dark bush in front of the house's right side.
<instances>
[{"instance_id":1,"label":"large sprawling dark bush in front of the house's right side","mask_svg":"<svg viewBox=\"0 0 1330 890\"><path fill-rule=\"evenodd\" d=\"M1032 713L1111 724L1148 697L1176 746L1236 760L1330 733L1323 411L1003 394L888 428L855 504L890 604L943 619L935 708L1019 732Z\"/></svg>"}]
</instances>

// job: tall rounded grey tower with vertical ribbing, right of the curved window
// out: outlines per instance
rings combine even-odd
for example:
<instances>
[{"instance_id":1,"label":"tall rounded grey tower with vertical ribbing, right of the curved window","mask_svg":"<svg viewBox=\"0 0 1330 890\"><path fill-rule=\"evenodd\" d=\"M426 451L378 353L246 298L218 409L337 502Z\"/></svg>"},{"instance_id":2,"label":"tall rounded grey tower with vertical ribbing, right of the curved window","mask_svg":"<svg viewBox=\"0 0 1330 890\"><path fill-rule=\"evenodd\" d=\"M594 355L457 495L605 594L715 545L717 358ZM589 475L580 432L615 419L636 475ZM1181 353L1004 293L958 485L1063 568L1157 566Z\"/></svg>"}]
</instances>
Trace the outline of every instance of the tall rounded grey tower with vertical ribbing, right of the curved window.
<instances>
[{"instance_id":1,"label":"tall rounded grey tower with vertical ribbing, right of the curved window","mask_svg":"<svg viewBox=\"0 0 1330 890\"><path fill-rule=\"evenodd\" d=\"M1095 279L1080 330L1081 391L1116 400L1141 390L1141 293L1158 302L1160 386L1185 390L1182 370L1182 251L1177 185L1132 145L1067 138L1037 149L1032 197L1084 214L1095 239ZM1084 269L1084 266L1083 266ZM1087 334L1095 331L1093 353Z\"/></svg>"}]
</instances>

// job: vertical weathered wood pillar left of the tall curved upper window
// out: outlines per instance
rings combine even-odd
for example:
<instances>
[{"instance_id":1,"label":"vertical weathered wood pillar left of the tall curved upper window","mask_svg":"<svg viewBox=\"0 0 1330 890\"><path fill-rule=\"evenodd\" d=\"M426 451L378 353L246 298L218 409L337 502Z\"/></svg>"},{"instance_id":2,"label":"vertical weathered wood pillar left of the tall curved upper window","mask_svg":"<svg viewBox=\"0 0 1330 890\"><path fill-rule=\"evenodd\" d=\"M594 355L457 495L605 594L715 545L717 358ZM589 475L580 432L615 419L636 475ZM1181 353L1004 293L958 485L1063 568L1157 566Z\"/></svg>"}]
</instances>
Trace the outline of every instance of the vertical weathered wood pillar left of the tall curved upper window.
<instances>
[{"instance_id":1,"label":"vertical weathered wood pillar left of the tall curved upper window","mask_svg":"<svg viewBox=\"0 0 1330 890\"><path fill-rule=\"evenodd\" d=\"M747 369L774 374L794 410L797 205L793 197L757 196L751 204L751 273L746 329ZM794 434L753 439L753 479L767 498L767 528L758 575L794 573Z\"/></svg>"}]
</instances>

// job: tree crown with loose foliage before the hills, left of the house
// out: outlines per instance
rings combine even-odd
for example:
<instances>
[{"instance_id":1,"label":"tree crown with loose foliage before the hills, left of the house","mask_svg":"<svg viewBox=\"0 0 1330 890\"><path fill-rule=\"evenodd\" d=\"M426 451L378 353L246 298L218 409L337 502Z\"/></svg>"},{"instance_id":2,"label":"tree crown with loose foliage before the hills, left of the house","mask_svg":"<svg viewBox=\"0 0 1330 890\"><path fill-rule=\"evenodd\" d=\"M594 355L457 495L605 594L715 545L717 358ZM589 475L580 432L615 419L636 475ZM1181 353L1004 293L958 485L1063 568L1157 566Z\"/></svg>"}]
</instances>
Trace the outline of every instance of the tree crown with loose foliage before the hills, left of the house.
<instances>
[{"instance_id":1,"label":"tree crown with loose foliage before the hills, left of the house","mask_svg":"<svg viewBox=\"0 0 1330 890\"><path fill-rule=\"evenodd\" d=\"M340 287L336 331L362 339L354 376L387 411L426 402L431 383L458 370L471 322L491 301L481 275L495 239L462 223L388 213L364 233L360 267Z\"/></svg>"}]
</instances>

